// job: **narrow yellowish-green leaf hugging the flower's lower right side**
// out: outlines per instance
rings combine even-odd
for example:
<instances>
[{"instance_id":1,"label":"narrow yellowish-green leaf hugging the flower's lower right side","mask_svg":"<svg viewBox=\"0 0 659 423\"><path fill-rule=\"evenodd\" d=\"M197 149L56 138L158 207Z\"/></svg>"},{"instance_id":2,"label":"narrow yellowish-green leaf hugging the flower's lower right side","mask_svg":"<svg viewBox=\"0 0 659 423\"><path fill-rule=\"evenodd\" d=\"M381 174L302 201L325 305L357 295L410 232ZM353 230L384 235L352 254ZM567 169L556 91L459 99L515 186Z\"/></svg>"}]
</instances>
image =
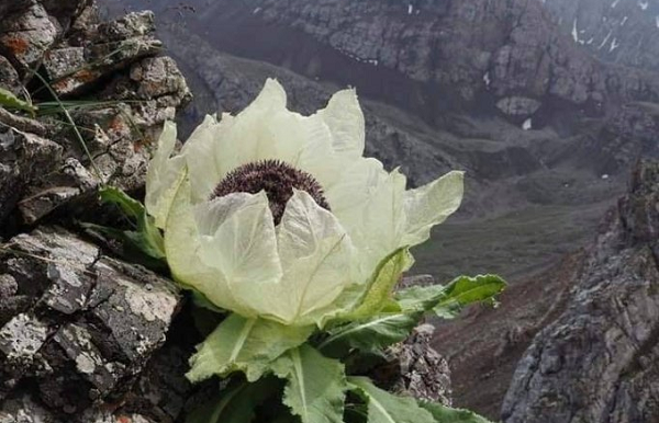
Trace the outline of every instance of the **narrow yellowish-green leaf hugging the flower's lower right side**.
<instances>
[{"instance_id":1,"label":"narrow yellowish-green leaf hugging the flower's lower right side","mask_svg":"<svg viewBox=\"0 0 659 423\"><path fill-rule=\"evenodd\" d=\"M406 247L398 249L384 258L368 282L360 305L342 320L359 320L381 311L389 304L393 287L411 262L410 250Z\"/></svg>"}]
</instances>

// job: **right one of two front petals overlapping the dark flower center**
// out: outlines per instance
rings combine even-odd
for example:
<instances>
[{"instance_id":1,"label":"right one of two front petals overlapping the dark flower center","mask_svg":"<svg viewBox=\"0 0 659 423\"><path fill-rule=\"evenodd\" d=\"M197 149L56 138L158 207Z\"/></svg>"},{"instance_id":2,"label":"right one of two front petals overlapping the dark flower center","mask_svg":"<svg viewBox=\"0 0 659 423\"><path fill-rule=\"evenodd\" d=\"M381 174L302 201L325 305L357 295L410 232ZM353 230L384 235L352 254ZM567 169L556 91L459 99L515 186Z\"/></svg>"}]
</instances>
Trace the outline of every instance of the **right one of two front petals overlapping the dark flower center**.
<instances>
[{"instance_id":1,"label":"right one of two front petals overlapping the dark flower center","mask_svg":"<svg viewBox=\"0 0 659 423\"><path fill-rule=\"evenodd\" d=\"M355 249L338 220L303 191L295 191L278 227L282 321L321 321L327 307L355 283ZM273 299L275 300L275 299Z\"/></svg>"}]
</instances>

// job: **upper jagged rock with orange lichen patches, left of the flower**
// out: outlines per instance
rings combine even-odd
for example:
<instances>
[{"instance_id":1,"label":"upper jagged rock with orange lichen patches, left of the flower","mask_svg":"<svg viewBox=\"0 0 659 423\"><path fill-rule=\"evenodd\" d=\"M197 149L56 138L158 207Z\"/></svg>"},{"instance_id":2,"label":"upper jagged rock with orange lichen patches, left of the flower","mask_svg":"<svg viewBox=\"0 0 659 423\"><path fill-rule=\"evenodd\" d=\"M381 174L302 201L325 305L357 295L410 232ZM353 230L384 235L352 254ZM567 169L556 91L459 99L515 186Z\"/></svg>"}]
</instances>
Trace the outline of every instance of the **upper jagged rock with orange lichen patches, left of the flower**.
<instances>
[{"instance_id":1,"label":"upper jagged rock with orange lichen patches, left of the flower","mask_svg":"<svg viewBox=\"0 0 659 423\"><path fill-rule=\"evenodd\" d=\"M20 39L24 47L20 54L9 49L4 54L20 65L22 73L41 64L58 95L85 91L87 99L96 98L101 104L69 111L93 163L78 134L66 125L68 121L62 124L64 117L59 122L48 117L35 121L0 108L0 122L9 127L56 140L40 139L52 147L42 148L42 152L12 147L15 153L1 156L0 222L16 204L21 220L26 224L62 207L72 209L77 204L89 203L99 183L125 191L141 188L149 160L148 146L158 138L163 123L174 119L176 110L191 98L176 62L167 57L150 57L161 47L154 36L153 13L131 13L99 22L96 4L88 0L34 1L12 12L12 19L0 24L0 45L9 46ZM63 25L70 31L59 37ZM4 75L7 80L1 79L5 87L19 91L13 66L0 56L0 76ZM110 83L99 85L100 79ZM43 91L36 90L36 94ZM14 137L14 129L4 128L0 136ZM24 138L19 136L19 147ZM32 140L33 136L26 139ZM8 142L2 141L0 148L7 150ZM47 163L38 162L38 157L47 158ZM40 164L44 165L34 172Z\"/></svg>"}]
</instances>

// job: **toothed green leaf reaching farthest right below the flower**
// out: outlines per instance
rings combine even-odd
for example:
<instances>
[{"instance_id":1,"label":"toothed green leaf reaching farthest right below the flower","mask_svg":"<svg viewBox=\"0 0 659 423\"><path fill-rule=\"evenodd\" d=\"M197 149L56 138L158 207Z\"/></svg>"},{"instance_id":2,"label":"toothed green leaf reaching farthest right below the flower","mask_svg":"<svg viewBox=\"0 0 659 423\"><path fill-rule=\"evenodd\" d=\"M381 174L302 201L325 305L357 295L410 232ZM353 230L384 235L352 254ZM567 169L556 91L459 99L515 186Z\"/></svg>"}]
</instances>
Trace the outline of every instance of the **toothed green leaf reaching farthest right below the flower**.
<instances>
[{"instance_id":1,"label":"toothed green leaf reaching farthest right below the flower","mask_svg":"<svg viewBox=\"0 0 659 423\"><path fill-rule=\"evenodd\" d=\"M398 293L396 299L403 310L433 310L440 318L453 319L465 306L473 302L496 305L494 297L501 294L505 286L505 281L496 275L460 276L445 287L413 286Z\"/></svg>"}]
</instances>

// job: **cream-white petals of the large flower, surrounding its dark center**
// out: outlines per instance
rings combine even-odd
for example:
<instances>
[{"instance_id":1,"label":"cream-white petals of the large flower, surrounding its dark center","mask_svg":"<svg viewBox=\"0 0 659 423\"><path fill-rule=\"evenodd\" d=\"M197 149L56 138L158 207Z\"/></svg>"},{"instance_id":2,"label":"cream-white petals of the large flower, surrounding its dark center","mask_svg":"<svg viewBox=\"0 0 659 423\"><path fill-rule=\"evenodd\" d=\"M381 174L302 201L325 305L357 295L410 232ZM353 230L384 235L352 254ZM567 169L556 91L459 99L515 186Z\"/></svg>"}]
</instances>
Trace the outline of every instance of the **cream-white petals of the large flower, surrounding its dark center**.
<instances>
[{"instance_id":1,"label":"cream-white petals of the large flower, surrounding its dark center","mask_svg":"<svg viewBox=\"0 0 659 423\"><path fill-rule=\"evenodd\" d=\"M146 207L165 231L177 281L247 318L322 324L357 306L386 256L425 241L459 207L462 172L405 191L398 170L362 157L365 123L354 90L337 92L311 116L286 104L281 85L268 80L238 115L208 116L175 157L176 127L168 123L148 170ZM276 225L265 191L213 198L227 175L264 160L313 176L328 209L317 195L289 188Z\"/></svg>"}]
</instances>

